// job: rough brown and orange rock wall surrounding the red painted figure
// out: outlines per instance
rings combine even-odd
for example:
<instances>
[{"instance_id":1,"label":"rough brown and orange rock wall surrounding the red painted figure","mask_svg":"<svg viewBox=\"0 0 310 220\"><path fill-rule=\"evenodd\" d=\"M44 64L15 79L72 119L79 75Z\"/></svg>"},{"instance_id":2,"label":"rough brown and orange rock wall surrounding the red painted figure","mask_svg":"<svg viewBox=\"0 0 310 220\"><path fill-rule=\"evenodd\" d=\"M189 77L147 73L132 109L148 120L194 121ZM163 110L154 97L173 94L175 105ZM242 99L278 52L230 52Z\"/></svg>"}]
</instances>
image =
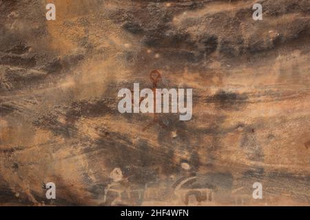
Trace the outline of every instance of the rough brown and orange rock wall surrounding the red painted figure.
<instances>
[{"instance_id":1,"label":"rough brown and orange rock wall surrounding the red painted figure","mask_svg":"<svg viewBox=\"0 0 310 220\"><path fill-rule=\"evenodd\" d=\"M309 0L1 0L0 205L309 206L309 25ZM153 69L192 120L118 112Z\"/></svg>"}]
</instances>

